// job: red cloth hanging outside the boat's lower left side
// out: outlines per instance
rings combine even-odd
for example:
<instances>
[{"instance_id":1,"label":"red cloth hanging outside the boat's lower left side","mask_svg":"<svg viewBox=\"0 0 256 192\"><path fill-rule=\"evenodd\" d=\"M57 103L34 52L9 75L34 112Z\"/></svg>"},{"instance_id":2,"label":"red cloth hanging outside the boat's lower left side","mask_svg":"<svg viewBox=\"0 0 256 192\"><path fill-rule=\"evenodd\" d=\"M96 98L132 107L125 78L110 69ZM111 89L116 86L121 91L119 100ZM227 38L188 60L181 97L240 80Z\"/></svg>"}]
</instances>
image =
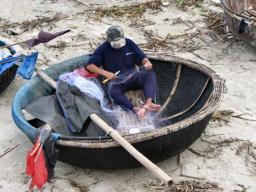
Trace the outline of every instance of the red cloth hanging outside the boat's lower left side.
<instances>
[{"instance_id":1,"label":"red cloth hanging outside the boat's lower left side","mask_svg":"<svg viewBox=\"0 0 256 192\"><path fill-rule=\"evenodd\" d=\"M45 166L45 160L43 156L44 150L41 150L36 163L34 161L40 147L37 149L36 153L30 156L30 154L34 151L38 143L39 139L37 140L36 145L27 154L26 173L30 175L32 178L29 189L33 188L34 185L37 185L40 189L43 188L43 185L46 183L48 177L47 169Z\"/></svg>"}]
</instances>

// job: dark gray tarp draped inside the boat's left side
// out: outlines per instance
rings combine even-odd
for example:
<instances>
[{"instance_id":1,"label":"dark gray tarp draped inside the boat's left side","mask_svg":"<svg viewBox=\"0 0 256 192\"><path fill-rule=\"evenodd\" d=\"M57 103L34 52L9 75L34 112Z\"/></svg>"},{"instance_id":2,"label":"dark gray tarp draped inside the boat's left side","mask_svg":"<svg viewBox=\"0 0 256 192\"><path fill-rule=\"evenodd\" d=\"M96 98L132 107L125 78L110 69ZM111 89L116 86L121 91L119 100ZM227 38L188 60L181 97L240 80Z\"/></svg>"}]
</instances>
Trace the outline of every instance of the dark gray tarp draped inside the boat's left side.
<instances>
[{"instance_id":1,"label":"dark gray tarp draped inside the boat's left side","mask_svg":"<svg viewBox=\"0 0 256 192\"><path fill-rule=\"evenodd\" d=\"M82 93L77 87L59 81L57 95L55 93L39 98L29 103L25 110L51 124L55 133L66 136L105 136L105 132L91 122L89 116L92 113L97 113L115 129L117 123L110 121L111 118L100 109L99 102ZM68 124L75 132L71 131Z\"/></svg>"}]
</instances>

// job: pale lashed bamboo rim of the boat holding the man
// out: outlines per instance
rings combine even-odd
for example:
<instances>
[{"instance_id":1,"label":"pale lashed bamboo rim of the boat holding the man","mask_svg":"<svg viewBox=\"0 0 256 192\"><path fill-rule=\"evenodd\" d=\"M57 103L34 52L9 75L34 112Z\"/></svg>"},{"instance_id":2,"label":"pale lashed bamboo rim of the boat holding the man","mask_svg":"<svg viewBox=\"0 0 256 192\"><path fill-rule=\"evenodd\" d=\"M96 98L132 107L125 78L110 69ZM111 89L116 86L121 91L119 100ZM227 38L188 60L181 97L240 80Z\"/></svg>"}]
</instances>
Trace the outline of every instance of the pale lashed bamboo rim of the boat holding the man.
<instances>
[{"instance_id":1,"label":"pale lashed bamboo rim of the boat holding the man","mask_svg":"<svg viewBox=\"0 0 256 192\"><path fill-rule=\"evenodd\" d=\"M176 57L172 55L158 55L158 54L148 54L149 59L161 60L167 62L181 63L191 69L198 70L212 79L213 82L213 94L210 101L208 101L197 113L194 115L179 121L177 123L164 126L158 130L152 130L147 132L141 132L138 134L125 135L121 134L128 142L136 143L156 137L161 137L173 132L185 129L186 127L195 124L207 116L211 115L220 105L223 98L223 88L224 83L219 78L219 75L212 69L204 66L203 64L181 57ZM120 146L114 139L110 136L100 136L100 137L71 137L71 136L59 136L57 144L61 146L68 147L80 147L80 148L109 148Z\"/></svg>"}]
</instances>

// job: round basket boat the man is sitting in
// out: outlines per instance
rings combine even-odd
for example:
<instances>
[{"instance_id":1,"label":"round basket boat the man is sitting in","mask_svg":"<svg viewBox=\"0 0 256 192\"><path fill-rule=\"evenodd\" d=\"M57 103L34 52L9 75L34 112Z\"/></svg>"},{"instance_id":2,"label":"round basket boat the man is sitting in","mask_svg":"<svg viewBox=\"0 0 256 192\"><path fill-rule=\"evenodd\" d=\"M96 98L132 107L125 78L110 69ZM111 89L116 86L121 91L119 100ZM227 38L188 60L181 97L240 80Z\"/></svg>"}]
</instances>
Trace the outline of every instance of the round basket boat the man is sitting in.
<instances>
[{"instance_id":1,"label":"round basket boat the man is sitting in","mask_svg":"<svg viewBox=\"0 0 256 192\"><path fill-rule=\"evenodd\" d=\"M60 62L44 73L52 78L73 71L88 61L89 55ZM166 105L169 124L161 129L123 135L152 162L164 161L187 149L204 131L222 100L223 83L204 65L173 56L148 55L157 77L158 98ZM175 90L175 91L174 91ZM21 110L53 89L38 75L30 79L15 95L12 117L28 138L34 142L35 122L25 121ZM168 101L168 102L167 102ZM60 149L59 161L95 169L125 169L141 164L109 136L70 137L53 133Z\"/></svg>"}]
</instances>

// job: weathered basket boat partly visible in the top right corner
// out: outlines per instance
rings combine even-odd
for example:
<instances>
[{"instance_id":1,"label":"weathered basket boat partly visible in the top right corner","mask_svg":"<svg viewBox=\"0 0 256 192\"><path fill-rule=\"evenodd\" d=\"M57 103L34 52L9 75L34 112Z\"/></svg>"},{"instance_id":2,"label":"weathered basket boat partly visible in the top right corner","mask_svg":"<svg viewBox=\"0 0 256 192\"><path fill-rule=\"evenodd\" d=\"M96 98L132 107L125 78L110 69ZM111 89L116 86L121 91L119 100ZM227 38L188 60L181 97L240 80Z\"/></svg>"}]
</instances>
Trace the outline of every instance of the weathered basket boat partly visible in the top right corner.
<instances>
[{"instance_id":1,"label":"weathered basket boat partly visible in the top right corner","mask_svg":"<svg viewBox=\"0 0 256 192\"><path fill-rule=\"evenodd\" d=\"M247 44L256 47L256 0L221 0L220 2L233 31ZM247 10L253 11L251 17Z\"/></svg>"}]
</instances>

